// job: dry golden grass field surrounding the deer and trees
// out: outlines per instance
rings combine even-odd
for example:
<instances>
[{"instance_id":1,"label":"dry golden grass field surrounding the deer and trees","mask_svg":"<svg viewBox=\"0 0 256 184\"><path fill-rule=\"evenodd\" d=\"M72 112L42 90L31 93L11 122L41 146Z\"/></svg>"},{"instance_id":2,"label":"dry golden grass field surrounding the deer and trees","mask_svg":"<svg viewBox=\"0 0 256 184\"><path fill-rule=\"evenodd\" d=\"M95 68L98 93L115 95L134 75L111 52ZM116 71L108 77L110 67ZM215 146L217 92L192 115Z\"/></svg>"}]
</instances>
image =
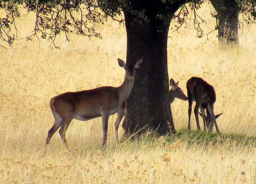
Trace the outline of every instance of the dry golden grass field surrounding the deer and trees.
<instances>
[{"instance_id":1,"label":"dry golden grass field surrounding the deer and trees","mask_svg":"<svg viewBox=\"0 0 256 184\"><path fill-rule=\"evenodd\" d=\"M215 20L205 7L201 14L208 33ZM23 13L17 23L21 36L33 24L33 17ZM100 118L73 120L66 134L70 151L56 133L45 154L54 123L50 98L122 84L117 58L126 59L126 31L109 21L100 28L102 40L72 36L65 42L61 36L60 50L45 41L39 47L37 40L18 40L0 48L0 183L256 183L256 27L243 30L239 49L219 50L217 32L199 39L192 22L188 25L179 33L170 30L169 77L185 94L192 76L214 86L214 112L223 112L217 123L224 135L186 131L188 103L176 100L171 107L178 134L172 138L144 135L116 144L113 115L102 148Z\"/></svg>"}]
</instances>

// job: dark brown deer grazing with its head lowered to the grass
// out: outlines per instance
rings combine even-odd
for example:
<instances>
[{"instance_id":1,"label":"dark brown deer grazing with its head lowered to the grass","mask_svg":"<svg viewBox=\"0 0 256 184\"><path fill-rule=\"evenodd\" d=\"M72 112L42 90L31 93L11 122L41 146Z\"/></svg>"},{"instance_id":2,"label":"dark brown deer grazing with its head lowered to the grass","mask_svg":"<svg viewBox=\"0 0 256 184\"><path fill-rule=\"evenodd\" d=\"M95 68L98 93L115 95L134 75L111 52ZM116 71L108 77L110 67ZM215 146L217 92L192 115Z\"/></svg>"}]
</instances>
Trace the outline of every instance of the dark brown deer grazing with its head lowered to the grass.
<instances>
[{"instance_id":1,"label":"dark brown deer grazing with its head lowered to the grass","mask_svg":"<svg viewBox=\"0 0 256 184\"><path fill-rule=\"evenodd\" d=\"M216 117L213 112L213 104L216 101L216 94L212 85L208 84L206 81L199 77L192 77L187 81L187 90L188 90L188 130L190 127L190 117L192 111L192 103L196 102L196 106L194 109L195 117L196 117L196 126L198 130L200 129L199 120L198 120L198 110L202 113L202 118L204 121L204 130L206 130L206 115L204 109L208 111L208 117L210 115L216 131L220 132L218 129L218 125L216 123ZM209 118L208 118L209 119ZM210 127L209 131L212 131L212 127Z\"/></svg>"}]
</instances>

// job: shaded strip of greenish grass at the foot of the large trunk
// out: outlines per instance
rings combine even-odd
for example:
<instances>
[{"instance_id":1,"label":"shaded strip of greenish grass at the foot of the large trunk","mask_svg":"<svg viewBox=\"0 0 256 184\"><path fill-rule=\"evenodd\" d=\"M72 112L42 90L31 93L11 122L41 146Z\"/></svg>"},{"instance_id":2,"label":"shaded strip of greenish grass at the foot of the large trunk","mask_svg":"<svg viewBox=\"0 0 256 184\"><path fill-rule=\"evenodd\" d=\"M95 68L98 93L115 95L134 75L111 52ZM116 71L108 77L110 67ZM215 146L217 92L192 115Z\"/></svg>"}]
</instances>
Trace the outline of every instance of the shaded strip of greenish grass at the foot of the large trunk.
<instances>
[{"instance_id":1,"label":"shaded strip of greenish grass at the foot of the large trunk","mask_svg":"<svg viewBox=\"0 0 256 184\"><path fill-rule=\"evenodd\" d=\"M246 135L216 133L208 131L188 131L187 129L178 130L174 135L157 136L155 133L143 134L139 137L128 138L118 144L107 144L92 148L89 152L97 155L100 152L105 156L126 153L152 152L152 150L173 150L177 148L193 150L203 148L204 150L221 149L223 150L247 150L255 148L256 137ZM88 148L83 149L88 151Z\"/></svg>"}]
</instances>

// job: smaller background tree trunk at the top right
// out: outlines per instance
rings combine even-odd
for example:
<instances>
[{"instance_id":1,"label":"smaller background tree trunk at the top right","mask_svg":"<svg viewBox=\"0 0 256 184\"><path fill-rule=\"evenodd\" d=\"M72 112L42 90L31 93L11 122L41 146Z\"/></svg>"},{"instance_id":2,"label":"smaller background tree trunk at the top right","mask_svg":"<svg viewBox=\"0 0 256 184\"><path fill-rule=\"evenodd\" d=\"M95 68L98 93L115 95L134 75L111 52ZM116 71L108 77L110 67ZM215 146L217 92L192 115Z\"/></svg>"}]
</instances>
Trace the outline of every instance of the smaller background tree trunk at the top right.
<instances>
[{"instance_id":1,"label":"smaller background tree trunk at the top right","mask_svg":"<svg viewBox=\"0 0 256 184\"><path fill-rule=\"evenodd\" d=\"M218 15L220 47L239 45L238 16L240 9L235 0L210 0Z\"/></svg>"}]
</instances>

